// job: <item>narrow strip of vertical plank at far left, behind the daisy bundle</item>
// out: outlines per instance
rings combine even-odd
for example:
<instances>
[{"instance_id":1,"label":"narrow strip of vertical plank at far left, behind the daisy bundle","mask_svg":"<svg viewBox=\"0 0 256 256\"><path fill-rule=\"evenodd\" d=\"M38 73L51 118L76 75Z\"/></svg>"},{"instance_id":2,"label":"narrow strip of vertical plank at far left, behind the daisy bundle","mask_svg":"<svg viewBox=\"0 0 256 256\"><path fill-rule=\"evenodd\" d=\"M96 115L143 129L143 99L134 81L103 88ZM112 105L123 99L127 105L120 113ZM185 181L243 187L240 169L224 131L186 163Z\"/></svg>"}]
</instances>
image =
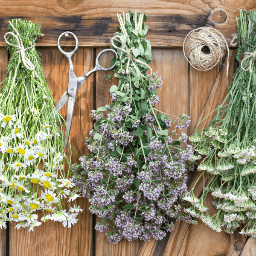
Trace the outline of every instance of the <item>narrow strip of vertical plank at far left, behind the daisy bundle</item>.
<instances>
[{"instance_id":1,"label":"narrow strip of vertical plank at far left, behind the daisy bundle","mask_svg":"<svg viewBox=\"0 0 256 256\"><path fill-rule=\"evenodd\" d=\"M0 48L0 63L0 82L2 82L6 78L6 68L8 64L8 53L3 48ZM6 256L6 248L9 246L9 244L6 244L8 242L6 235L9 232L9 227L7 227L7 229L8 230L4 228L0 229L0 256Z\"/></svg>"}]
</instances>

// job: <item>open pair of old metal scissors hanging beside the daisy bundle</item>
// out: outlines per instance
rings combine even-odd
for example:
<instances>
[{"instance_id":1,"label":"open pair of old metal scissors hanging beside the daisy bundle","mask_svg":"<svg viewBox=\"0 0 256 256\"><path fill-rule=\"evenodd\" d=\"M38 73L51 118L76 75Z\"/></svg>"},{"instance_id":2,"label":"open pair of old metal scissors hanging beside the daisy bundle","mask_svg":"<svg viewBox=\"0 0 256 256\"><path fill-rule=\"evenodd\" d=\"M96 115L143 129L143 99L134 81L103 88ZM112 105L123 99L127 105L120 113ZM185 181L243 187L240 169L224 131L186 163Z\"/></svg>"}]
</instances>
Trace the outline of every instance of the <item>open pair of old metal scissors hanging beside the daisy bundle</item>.
<instances>
[{"instance_id":1,"label":"open pair of old metal scissors hanging beside the daisy bundle","mask_svg":"<svg viewBox=\"0 0 256 256\"><path fill-rule=\"evenodd\" d=\"M76 39L76 47L72 52L65 52L63 49L61 49L61 38L66 35L72 35ZM74 112L74 107L75 107L75 102L76 102L76 92L77 90L84 84L86 79L96 71L108 71L113 69L115 67L116 62L113 64L112 67L102 67L99 64L99 57L102 55L104 52L113 52L116 55L116 59L118 58L118 55L115 50L113 49L105 49L101 51L98 56L96 57L96 65L93 70L90 70L87 72L84 76L76 77L74 73L74 66L73 62L71 60L72 55L76 52L78 49L78 39L75 34L72 32L64 32L62 33L59 38L58 38L58 49L61 51L63 55L65 55L69 61L69 79L68 79L68 86L67 90L63 93L61 98L59 99L58 103L55 106L56 111L60 111L60 109L65 105L65 103L68 101L67 105L67 121L66 121L66 130L65 130L65 139L64 139L64 148L66 148L68 139L69 139L69 134L70 134L70 128L72 124L72 119L73 119L73 112Z\"/></svg>"}]
</instances>

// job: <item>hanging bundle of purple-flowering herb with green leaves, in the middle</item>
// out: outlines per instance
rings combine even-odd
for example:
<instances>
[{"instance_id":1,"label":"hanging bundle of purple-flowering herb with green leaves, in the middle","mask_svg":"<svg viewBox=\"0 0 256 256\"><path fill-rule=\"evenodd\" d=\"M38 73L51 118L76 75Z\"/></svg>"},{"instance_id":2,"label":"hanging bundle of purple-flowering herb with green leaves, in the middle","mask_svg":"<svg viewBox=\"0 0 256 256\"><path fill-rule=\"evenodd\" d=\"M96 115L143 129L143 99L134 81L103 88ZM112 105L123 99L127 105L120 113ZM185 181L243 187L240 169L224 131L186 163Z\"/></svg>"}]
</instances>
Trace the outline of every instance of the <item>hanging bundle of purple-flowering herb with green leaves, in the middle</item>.
<instances>
[{"instance_id":1,"label":"hanging bundle of purple-flowering herb with green leaves, in the middle","mask_svg":"<svg viewBox=\"0 0 256 256\"><path fill-rule=\"evenodd\" d=\"M146 74L152 55L145 18L118 15L120 32L111 48L119 55L114 70L119 85L110 88L111 105L92 111L97 120L87 138L92 154L73 166L73 182L89 199L90 211L103 218L96 230L109 228L107 239L114 244L122 238L161 240L173 230L175 219L191 221L180 198L187 194L185 161L192 146L186 147L185 133L174 140L176 131L168 130L172 118L154 108L162 80L156 73ZM189 126L185 114L177 120L176 128Z\"/></svg>"}]
</instances>

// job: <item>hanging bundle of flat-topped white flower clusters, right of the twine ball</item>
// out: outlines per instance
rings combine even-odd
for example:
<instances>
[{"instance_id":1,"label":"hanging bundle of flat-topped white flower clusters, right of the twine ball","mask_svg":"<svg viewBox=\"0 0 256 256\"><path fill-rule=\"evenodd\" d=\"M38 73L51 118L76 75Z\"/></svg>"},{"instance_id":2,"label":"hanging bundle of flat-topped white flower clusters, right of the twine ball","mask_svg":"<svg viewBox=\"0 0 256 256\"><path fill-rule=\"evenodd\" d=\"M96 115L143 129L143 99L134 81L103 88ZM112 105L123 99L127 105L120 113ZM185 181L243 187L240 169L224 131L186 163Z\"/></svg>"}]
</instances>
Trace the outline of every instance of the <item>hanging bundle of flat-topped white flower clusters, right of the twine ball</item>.
<instances>
[{"instance_id":1,"label":"hanging bundle of flat-topped white flower clusters, right of the twine ball","mask_svg":"<svg viewBox=\"0 0 256 256\"><path fill-rule=\"evenodd\" d=\"M240 22L239 22L240 21ZM217 114L201 132L189 140L195 145L192 159L204 159L198 165L209 180L203 194L196 198L193 190L185 197L192 203L186 212L201 218L220 232L233 233L241 224L242 235L256 237L256 13L240 10L237 18L237 60L243 60L233 75L227 97ZM228 99L228 104L225 101ZM207 211L206 197L218 209L214 216Z\"/></svg>"}]
</instances>

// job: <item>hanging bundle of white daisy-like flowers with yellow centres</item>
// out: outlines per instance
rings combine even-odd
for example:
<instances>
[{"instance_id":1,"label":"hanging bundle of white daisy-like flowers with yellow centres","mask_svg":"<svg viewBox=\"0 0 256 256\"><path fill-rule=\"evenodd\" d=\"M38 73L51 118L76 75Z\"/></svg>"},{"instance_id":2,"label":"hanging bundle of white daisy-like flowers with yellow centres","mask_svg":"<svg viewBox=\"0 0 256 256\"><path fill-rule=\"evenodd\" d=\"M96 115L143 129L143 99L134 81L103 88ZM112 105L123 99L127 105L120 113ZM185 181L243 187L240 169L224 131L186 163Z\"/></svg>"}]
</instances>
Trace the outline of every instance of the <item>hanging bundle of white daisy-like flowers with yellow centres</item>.
<instances>
[{"instance_id":1,"label":"hanging bundle of white daisy-like flowers with yellow centres","mask_svg":"<svg viewBox=\"0 0 256 256\"><path fill-rule=\"evenodd\" d=\"M9 22L7 47L11 58L0 94L0 227L40 226L41 221L61 221L71 227L81 210L73 190L70 163L63 149L63 119L44 78L35 50L38 24ZM67 176L64 163L69 166ZM64 198L74 201L69 211ZM44 216L38 220L36 210ZM37 213L37 212L36 212Z\"/></svg>"}]
</instances>

